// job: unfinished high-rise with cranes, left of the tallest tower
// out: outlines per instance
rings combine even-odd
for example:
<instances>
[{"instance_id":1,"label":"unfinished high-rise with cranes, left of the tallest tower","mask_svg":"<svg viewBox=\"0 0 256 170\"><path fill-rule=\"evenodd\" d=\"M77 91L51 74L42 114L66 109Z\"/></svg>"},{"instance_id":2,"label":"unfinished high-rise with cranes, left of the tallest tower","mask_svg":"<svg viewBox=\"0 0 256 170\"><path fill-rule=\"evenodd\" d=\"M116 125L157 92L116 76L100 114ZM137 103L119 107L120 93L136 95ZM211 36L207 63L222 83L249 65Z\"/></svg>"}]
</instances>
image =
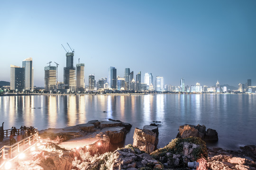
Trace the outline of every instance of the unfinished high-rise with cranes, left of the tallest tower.
<instances>
[{"instance_id":1,"label":"unfinished high-rise with cranes, left of the tallest tower","mask_svg":"<svg viewBox=\"0 0 256 170\"><path fill-rule=\"evenodd\" d=\"M45 67L45 90L51 91L56 89L56 67Z\"/></svg>"}]
</instances>

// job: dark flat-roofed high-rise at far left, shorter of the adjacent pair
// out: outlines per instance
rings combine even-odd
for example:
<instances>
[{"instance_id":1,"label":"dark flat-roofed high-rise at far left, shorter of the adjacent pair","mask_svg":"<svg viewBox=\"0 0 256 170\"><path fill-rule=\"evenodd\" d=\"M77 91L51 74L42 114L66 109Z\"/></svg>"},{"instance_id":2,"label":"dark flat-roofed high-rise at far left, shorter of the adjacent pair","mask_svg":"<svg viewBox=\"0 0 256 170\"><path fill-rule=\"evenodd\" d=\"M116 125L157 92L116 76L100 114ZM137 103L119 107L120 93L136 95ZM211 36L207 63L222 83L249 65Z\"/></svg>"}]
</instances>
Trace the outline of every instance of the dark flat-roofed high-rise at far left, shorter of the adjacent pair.
<instances>
[{"instance_id":1,"label":"dark flat-roofed high-rise at far left, shorter of the adjacent pair","mask_svg":"<svg viewBox=\"0 0 256 170\"><path fill-rule=\"evenodd\" d=\"M25 88L25 68L10 65L10 90L22 91Z\"/></svg>"}]
</instances>

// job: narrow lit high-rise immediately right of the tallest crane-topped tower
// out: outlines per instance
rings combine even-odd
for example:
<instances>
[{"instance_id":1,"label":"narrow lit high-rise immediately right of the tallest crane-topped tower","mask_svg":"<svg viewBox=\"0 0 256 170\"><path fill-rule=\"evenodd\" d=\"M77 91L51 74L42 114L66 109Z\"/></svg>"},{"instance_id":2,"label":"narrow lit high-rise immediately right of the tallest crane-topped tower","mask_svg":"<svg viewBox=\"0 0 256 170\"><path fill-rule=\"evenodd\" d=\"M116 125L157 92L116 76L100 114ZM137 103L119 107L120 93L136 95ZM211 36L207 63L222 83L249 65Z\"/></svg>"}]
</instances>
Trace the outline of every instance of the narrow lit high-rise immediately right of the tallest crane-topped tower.
<instances>
[{"instance_id":1,"label":"narrow lit high-rise immediately right of the tallest crane-topped tower","mask_svg":"<svg viewBox=\"0 0 256 170\"><path fill-rule=\"evenodd\" d=\"M84 63L76 64L76 91L84 92Z\"/></svg>"}]
</instances>

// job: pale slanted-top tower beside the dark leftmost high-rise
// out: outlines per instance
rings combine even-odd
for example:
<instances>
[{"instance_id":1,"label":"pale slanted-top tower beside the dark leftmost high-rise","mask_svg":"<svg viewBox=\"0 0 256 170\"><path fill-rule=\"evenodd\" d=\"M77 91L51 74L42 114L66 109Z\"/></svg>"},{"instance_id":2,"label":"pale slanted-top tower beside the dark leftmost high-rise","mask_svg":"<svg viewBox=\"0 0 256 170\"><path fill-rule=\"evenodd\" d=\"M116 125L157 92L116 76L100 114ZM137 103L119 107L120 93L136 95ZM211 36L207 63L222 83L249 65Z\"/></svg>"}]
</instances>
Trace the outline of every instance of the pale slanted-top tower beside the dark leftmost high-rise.
<instances>
[{"instance_id":1,"label":"pale slanted-top tower beside the dark leftmost high-rise","mask_svg":"<svg viewBox=\"0 0 256 170\"><path fill-rule=\"evenodd\" d=\"M32 67L32 58L22 61L22 67L25 68L25 90L34 90L34 68Z\"/></svg>"}]
</instances>

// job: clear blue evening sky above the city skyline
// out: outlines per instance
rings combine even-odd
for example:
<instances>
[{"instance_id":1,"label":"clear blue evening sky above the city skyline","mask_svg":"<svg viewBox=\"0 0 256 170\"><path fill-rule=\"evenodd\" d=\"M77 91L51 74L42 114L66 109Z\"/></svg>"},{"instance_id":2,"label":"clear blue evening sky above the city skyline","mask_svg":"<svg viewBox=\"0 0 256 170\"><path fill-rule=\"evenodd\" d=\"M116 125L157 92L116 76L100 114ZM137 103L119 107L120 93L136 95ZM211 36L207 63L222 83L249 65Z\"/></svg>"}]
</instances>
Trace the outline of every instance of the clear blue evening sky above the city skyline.
<instances>
[{"instance_id":1,"label":"clear blue evening sky above the city skyline","mask_svg":"<svg viewBox=\"0 0 256 170\"><path fill-rule=\"evenodd\" d=\"M63 81L68 42L86 85L110 66L121 77L141 71L142 82L148 72L168 85L256 85L255 17L255 0L4 0L0 80L32 57L34 85L44 86L49 61Z\"/></svg>"}]
</instances>

